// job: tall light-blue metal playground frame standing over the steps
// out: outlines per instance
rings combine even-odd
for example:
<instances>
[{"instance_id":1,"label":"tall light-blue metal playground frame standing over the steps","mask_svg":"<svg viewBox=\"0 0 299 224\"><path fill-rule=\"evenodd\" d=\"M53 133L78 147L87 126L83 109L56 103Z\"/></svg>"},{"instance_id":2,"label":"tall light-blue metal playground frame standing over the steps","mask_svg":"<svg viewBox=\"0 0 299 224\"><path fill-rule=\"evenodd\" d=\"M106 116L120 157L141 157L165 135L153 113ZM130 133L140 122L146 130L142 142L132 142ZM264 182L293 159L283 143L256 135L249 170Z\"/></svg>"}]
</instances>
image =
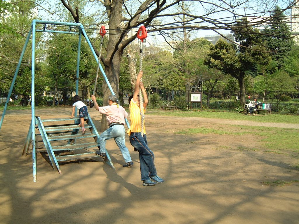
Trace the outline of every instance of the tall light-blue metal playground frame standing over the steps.
<instances>
[{"instance_id":1,"label":"tall light-blue metal playground frame standing over the steps","mask_svg":"<svg viewBox=\"0 0 299 224\"><path fill-rule=\"evenodd\" d=\"M43 29L36 29L36 26L38 24L43 24ZM56 25L56 26L61 26L61 27L68 27L68 30L46 30L46 28L51 27L51 26L47 27L47 25L53 25L53 26ZM77 28L78 32L72 31L73 28ZM36 148L35 148L35 126L36 126L36 119L35 119L35 90L34 90L34 77L35 77L35 34L36 34L36 32L65 33L65 34L77 34L77 35L79 35L78 53L77 53L76 94L78 94L78 86L79 86L79 64L80 64L80 48L81 48L82 34L85 37L85 39L86 39L86 41L87 41L87 43L88 43L88 45L89 45L89 47L91 49L91 52L94 55L95 60L97 61L97 63L99 63L99 59L98 59L96 53L94 52L94 49L93 49L93 47L91 45L91 42L90 42L90 40L89 40L89 38L88 38L88 36L87 36L87 34L86 34L86 32L85 32L84 27L83 27L82 24L80 24L80 23L66 23L66 22L51 22L51 21L44 21L44 20L33 20L32 21L32 24L31 24L31 27L30 27L30 31L28 33L25 45L23 47L23 50L22 50L22 53L21 53L21 57L20 57L18 65L17 65L16 72L14 73L13 81L11 83L10 90L9 90L9 93L8 93L8 96L7 96L7 99L6 99L6 104L4 106L3 114L2 114L2 117L1 117L1 121L0 121L0 130L1 130L2 122L4 120L4 115L5 115L5 112L6 112L6 109L7 109L9 98L10 98L11 93L13 91L13 86L15 84L16 77L18 75L18 72L19 72L19 69L20 69L20 65L21 65L21 62L22 62L22 59L23 59L26 47L27 47L28 42L30 40L30 36L32 34L31 127L30 128L31 128L31 133L32 133L32 160L33 160L33 181L34 182L36 182ZM107 79L107 76L106 76L106 74L105 74L102 66L100 66L100 70L102 72L104 80L106 81L106 83L108 85L109 90L111 91L112 95L115 95L115 93L112 90L112 87L111 87L111 85L109 83L109 80ZM125 119L125 121L126 121L126 124L127 124L128 128L129 128L129 122L127 121L127 119ZM30 130L30 128L29 128L29 130Z\"/></svg>"}]
</instances>

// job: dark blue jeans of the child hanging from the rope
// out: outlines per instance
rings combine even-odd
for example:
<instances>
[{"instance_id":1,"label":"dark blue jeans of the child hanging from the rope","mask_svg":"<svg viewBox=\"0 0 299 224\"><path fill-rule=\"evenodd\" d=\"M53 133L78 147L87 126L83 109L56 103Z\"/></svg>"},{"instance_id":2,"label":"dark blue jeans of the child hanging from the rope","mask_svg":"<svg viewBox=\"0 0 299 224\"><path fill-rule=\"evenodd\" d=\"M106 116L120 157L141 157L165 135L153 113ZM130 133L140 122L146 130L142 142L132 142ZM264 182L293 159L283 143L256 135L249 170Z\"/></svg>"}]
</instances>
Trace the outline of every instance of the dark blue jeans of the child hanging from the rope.
<instances>
[{"instance_id":1,"label":"dark blue jeans of the child hanging from the rope","mask_svg":"<svg viewBox=\"0 0 299 224\"><path fill-rule=\"evenodd\" d=\"M139 152L141 180L149 180L149 177L157 175L154 164L154 153L147 146L147 136L140 132L131 132L130 143Z\"/></svg>"}]
</instances>

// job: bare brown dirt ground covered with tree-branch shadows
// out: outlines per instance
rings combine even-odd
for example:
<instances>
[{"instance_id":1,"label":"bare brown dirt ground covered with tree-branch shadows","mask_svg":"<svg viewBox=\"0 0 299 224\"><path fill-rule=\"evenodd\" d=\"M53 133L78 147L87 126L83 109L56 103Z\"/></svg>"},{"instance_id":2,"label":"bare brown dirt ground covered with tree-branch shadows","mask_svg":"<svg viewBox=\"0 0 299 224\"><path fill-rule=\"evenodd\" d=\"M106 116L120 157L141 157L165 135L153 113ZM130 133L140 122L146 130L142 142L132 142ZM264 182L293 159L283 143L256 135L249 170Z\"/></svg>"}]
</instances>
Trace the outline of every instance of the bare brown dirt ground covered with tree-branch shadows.
<instances>
[{"instance_id":1,"label":"bare brown dirt ground covered with tree-branch shadows","mask_svg":"<svg viewBox=\"0 0 299 224\"><path fill-rule=\"evenodd\" d=\"M99 130L101 116L89 113ZM45 118L68 118L71 108L37 109ZM1 224L298 224L299 182L269 186L265 181L299 180L298 158L251 150L257 136L194 134L187 128L232 128L240 121L146 114L147 139L165 182L144 187L138 153L126 137L134 166L123 168L113 140L107 150L115 169L102 158L60 164L62 175L37 154L22 156L31 111L7 111L0 131ZM248 124L243 124L248 125ZM277 126L277 124L261 124ZM299 128L299 125L278 124ZM287 130L287 129L286 129ZM97 148L91 149L96 151Z\"/></svg>"}]
</instances>

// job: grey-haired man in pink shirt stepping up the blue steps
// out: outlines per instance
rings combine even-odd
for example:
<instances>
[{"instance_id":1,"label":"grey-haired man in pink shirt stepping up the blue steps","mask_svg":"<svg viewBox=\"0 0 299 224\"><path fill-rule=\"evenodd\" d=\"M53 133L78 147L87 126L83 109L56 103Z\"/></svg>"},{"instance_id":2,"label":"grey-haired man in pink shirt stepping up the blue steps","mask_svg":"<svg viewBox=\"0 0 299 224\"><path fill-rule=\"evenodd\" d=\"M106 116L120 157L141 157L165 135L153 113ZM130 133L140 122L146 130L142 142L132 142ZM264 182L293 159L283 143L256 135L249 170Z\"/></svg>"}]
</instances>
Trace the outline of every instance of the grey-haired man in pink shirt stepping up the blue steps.
<instances>
[{"instance_id":1,"label":"grey-haired man in pink shirt stepping up the blue steps","mask_svg":"<svg viewBox=\"0 0 299 224\"><path fill-rule=\"evenodd\" d=\"M100 151L95 153L105 158L106 157L106 140L114 138L116 145L118 146L123 159L126 164L123 167L133 166L133 162L129 153L128 148L125 145L125 118L127 118L128 113L125 109L118 105L116 96L109 96L109 105L104 107L99 107L97 100L94 95L91 96L94 102L94 108L96 108L100 113L106 114L106 120L108 122L109 128L100 134Z\"/></svg>"}]
</instances>

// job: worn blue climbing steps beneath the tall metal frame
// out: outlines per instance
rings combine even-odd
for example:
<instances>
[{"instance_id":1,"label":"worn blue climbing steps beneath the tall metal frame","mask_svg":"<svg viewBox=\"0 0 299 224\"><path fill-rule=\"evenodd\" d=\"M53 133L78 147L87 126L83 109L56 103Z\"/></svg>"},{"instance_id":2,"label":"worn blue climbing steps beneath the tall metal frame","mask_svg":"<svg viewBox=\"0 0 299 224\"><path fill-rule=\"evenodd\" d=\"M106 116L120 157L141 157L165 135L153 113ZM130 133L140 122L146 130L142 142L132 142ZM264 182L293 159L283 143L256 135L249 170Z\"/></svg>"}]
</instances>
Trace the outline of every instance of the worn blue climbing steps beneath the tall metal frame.
<instances>
[{"instance_id":1,"label":"worn blue climbing steps beneath the tall metal frame","mask_svg":"<svg viewBox=\"0 0 299 224\"><path fill-rule=\"evenodd\" d=\"M36 116L35 141L32 142L32 124L30 124L22 155L32 154L33 151L35 153L47 152L53 169L56 168L60 174L61 170L58 164L60 161L99 157L89 149L100 148L100 135L89 115L84 120L86 122L86 133L82 135L81 127L78 126L80 124L79 117L72 119L41 119ZM31 142L32 150L29 148ZM107 151L104 161L114 168ZM36 168L35 163L36 161L33 159L33 174L36 173L34 170Z\"/></svg>"}]
</instances>

